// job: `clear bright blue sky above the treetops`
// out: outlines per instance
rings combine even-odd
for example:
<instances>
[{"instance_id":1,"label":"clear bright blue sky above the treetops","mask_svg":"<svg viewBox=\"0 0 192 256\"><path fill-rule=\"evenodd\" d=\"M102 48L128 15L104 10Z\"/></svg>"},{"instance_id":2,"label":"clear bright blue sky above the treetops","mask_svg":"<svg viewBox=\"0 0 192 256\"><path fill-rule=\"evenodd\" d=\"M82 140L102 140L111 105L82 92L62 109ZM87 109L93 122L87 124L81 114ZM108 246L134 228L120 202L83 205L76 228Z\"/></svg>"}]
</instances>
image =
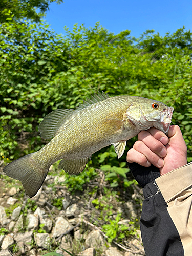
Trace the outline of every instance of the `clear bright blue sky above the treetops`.
<instances>
[{"instance_id":1,"label":"clear bright blue sky above the treetops","mask_svg":"<svg viewBox=\"0 0 192 256\"><path fill-rule=\"evenodd\" d=\"M84 24L94 27L96 22L115 34L131 30L139 37L146 29L154 29L160 35L173 33L178 28L192 29L192 0L64 0L52 3L46 21L58 34L65 34L64 26Z\"/></svg>"}]
</instances>

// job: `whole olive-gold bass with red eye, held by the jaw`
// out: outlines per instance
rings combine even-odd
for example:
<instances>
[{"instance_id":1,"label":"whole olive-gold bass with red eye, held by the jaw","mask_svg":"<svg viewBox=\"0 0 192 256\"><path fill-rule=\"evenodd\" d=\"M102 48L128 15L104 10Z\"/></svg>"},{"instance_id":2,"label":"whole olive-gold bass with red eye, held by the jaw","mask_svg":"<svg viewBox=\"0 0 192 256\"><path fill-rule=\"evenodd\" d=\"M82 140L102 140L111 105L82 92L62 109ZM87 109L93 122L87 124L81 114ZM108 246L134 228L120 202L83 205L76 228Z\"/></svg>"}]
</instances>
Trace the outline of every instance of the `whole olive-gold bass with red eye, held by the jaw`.
<instances>
[{"instance_id":1,"label":"whole olive-gold bass with red eye, held by the jaw","mask_svg":"<svg viewBox=\"0 0 192 256\"><path fill-rule=\"evenodd\" d=\"M87 98L75 110L58 109L39 124L40 135L51 139L39 151L21 157L4 168L4 173L22 182L33 197L44 182L50 166L60 161L69 174L84 170L93 153L113 145L118 158L126 141L140 131L156 127L168 132L174 108L152 99L104 92Z\"/></svg>"}]
</instances>

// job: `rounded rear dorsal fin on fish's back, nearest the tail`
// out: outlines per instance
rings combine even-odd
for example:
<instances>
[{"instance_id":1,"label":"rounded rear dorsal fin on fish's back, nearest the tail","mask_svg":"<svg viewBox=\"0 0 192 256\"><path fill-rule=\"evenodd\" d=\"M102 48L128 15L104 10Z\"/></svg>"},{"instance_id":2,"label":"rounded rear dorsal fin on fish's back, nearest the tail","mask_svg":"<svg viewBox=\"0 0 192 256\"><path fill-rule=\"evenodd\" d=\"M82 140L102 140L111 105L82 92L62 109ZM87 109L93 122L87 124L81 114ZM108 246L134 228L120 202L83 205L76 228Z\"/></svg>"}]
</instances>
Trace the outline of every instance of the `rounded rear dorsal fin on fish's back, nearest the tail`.
<instances>
[{"instance_id":1,"label":"rounded rear dorsal fin on fish's back, nearest the tail","mask_svg":"<svg viewBox=\"0 0 192 256\"><path fill-rule=\"evenodd\" d=\"M63 122L67 121L75 110L60 109L49 113L39 124L38 130L44 139L50 139L55 136Z\"/></svg>"}]
</instances>

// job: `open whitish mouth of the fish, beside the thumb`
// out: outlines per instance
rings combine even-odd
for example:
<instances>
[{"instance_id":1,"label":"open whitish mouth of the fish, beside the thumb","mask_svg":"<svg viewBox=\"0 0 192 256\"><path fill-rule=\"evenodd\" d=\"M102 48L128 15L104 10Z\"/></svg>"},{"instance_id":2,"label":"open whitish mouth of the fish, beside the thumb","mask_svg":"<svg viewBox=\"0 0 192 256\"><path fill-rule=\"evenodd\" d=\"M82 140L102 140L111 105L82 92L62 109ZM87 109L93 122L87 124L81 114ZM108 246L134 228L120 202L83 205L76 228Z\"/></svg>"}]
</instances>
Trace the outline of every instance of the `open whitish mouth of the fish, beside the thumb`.
<instances>
[{"instance_id":1,"label":"open whitish mouth of the fish, beside the thumb","mask_svg":"<svg viewBox=\"0 0 192 256\"><path fill-rule=\"evenodd\" d=\"M165 110L161 111L161 118L159 122L154 122L154 127L168 135L170 123L172 122L173 112L173 106L168 106Z\"/></svg>"}]
</instances>

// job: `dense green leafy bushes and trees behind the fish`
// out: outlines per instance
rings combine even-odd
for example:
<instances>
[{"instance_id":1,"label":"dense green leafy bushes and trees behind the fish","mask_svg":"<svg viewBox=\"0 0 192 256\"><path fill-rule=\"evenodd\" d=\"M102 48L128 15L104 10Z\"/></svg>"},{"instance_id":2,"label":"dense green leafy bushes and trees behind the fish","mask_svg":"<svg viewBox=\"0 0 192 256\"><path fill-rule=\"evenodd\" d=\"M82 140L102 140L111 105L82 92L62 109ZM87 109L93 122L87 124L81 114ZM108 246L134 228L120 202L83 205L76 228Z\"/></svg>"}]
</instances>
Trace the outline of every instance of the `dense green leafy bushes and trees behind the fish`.
<instances>
[{"instance_id":1,"label":"dense green leafy bushes and trees behind the fish","mask_svg":"<svg viewBox=\"0 0 192 256\"><path fill-rule=\"evenodd\" d=\"M154 31L134 38L95 24L74 25L67 36L55 34L40 19L49 2L1 1L0 8L0 158L5 166L35 152L48 141L38 125L51 111L75 108L86 97L104 91L110 97L135 95L174 106L192 161L192 33L185 28L160 36ZM62 1L57 1L57 3ZM35 8L40 8L37 13ZM127 142L130 148L135 138ZM128 180L126 150L117 160L114 148L95 153L89 167L106 172L111 187ZM85 170L87 172L87 170ZM92 173L93 174L93 173ZM90 174L90 175L92 175ZM82 179L82 174L80 177ZM80 179L80 178L79 178ZM70 182L72 182L71 179ZM89 179L87 180L89 182ZM77 181L73 186L78 187ZM82 188L80 186L80 188Z\"/></svg>"}]
</instances>

